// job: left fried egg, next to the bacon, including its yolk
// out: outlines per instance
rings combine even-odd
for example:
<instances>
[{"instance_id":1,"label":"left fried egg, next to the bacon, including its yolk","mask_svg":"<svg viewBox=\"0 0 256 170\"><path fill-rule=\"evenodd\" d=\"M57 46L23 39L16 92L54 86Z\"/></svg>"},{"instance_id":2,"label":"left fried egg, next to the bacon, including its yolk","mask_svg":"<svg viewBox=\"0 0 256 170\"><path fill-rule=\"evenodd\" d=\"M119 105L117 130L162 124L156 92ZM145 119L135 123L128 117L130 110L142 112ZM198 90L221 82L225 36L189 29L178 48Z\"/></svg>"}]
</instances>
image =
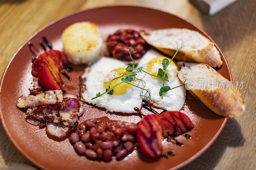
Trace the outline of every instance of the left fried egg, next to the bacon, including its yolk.
<instances>
[{"instance_id":1,"label":"left fried egg, next to the bacon, including its yolk","mask_svg":"<svg viewBox=\"0 0 256 170\"><path fill-rule=\"evenodd\" d=\"M138 113L142 105L142 99L139 95L140 89L127 83L116 86L113 89L113 95L104 94L102 97L92 100L98 92L106 92L106 88L114 78L116 79L110 83L110 88L121 82L121 78L124 77L120 77L122 76L121 74L129 74L125 70L126 67L123 62L106 57L102 57L87 67L82 76L84 79L83 100L97 107L106 108L110 112ZM138 85L136 81L131 83Z\"/></svg>"}]
</instances>

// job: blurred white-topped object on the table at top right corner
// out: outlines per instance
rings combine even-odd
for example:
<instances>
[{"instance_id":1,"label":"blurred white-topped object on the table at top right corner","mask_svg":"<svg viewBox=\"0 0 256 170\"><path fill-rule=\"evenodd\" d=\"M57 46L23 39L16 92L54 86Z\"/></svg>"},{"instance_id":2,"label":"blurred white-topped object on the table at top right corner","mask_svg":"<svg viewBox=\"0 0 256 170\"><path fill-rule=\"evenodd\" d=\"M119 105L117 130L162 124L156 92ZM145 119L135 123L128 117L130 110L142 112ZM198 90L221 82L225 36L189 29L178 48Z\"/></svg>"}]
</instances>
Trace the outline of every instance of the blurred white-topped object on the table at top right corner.
<instances>
[{"instance_id":1,"label":"blurred white-topped object on the table at top right corner","mask_svg":"<svg viewBox=\"0 0 256 170\"><path fill-rule=\"evenodd\" d=\"M189 0L204 13L213 15L237 0Z\"/></svg>"}]
</instances>

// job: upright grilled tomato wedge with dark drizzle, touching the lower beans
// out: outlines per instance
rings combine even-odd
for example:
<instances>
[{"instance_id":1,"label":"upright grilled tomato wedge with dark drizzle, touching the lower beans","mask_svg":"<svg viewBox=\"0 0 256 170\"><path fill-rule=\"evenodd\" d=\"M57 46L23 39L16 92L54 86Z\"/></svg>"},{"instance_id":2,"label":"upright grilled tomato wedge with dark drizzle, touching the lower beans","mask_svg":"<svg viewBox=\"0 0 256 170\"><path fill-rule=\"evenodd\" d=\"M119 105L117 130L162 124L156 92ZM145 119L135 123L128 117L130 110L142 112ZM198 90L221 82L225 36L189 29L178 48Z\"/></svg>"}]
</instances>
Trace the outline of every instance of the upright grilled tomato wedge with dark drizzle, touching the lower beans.
<instances>
[{"instance_id":1,"label":"upright grilled tomato wedge with dark drizzle, touching the lower beans","mask_svg":"<svg viewBox=\"0 0 256 170\"><path fill-rule=\"evenodd\" d=\"M152 159L162 153L162 129L157 115L146 115L138 123L137 140L141 151Z\"/></svg>"}]
</instances>

